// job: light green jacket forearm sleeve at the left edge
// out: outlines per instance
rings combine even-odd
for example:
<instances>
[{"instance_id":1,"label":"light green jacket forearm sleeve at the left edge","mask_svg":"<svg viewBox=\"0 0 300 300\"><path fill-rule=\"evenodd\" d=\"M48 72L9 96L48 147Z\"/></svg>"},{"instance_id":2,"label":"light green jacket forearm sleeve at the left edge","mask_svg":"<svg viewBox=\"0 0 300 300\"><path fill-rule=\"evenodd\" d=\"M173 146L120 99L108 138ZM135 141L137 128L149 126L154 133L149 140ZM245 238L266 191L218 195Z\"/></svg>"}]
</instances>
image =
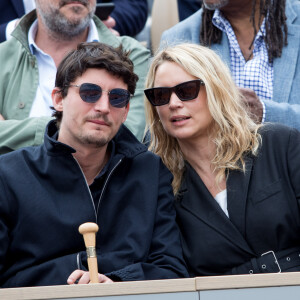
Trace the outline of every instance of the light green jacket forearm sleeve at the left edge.
<instances>
[{"instance_id":1,"label":"light green jacket forearm sleeve at the left edge","mask_svg":"<svg viewBox=\"0 0 300 300\"><path fill-rule=\"evenodd\" d=\"M0 121L0 154L18 148L40 145L51 117Z\"/></svg>"}]
</instances>

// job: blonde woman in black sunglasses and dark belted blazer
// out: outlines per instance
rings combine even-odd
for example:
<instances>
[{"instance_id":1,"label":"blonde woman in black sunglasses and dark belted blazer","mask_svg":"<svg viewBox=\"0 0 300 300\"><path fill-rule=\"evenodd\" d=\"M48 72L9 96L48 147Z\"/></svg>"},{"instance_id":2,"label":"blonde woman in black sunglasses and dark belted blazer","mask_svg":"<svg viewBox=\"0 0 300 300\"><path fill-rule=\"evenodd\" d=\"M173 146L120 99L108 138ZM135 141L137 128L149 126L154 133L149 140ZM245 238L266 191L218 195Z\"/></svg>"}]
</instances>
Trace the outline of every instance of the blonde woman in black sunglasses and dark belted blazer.
<instances>
[{"instance_id":1,"label":"blonde woman in black sunglasses and dark belted blazer","mask_svg":"<svg viewBox=\"0 0 300 300\"><path fill-rule=\"evenodd\" d=\"M190 276L300 271L300 133L255 124L199 45L159 52L146 84L150 148L174 175Z\"/></svg>"}]
</instances>

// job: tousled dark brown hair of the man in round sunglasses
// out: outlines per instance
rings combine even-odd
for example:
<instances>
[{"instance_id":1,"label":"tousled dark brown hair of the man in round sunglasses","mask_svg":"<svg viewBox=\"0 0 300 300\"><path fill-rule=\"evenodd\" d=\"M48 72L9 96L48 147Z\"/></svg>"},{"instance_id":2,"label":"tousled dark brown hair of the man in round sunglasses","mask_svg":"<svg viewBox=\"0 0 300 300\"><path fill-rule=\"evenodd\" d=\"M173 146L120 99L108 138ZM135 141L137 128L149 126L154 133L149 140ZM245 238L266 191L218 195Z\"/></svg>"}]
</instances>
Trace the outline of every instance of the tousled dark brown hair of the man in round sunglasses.
<instances>
[{"instance_id":1,"label":"tousled dark brown hair of the man in round sunglasses","mask_svg":"<svg viewBox=\"0 0 300 300\"><path fill-rule=\"evenodd\" d=\"M68 94L69 85L88 69L104 69L113 76L121 78L128 86L130 94L134 94L138 76L134 73L133 62L129 52L107 44L92 42L80 43L61 61L57 68L55 86L60 89L62 97ZM53 116L59 126L63 113L54 110Z\"/></svg>"}]
</instances>

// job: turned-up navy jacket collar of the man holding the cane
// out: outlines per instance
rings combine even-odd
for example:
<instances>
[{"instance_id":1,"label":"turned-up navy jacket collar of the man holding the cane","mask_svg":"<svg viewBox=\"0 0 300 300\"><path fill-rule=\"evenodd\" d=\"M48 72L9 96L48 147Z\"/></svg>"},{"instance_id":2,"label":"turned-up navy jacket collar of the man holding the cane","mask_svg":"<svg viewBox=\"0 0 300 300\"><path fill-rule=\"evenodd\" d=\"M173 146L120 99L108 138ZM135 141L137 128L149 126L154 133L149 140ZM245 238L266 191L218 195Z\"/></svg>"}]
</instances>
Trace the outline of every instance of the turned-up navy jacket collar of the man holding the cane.
<instances>
[{"instance_id":1,"label":"turned-up navy jacket collar of the man holding the cane","mask_svg":"<svg viewBox=\"0 0 300 300\"><path fill-rule=\"evenodd\" d=\"M65 155L76 152L74 148L57 141L57 136L56 121L51 120L44 135L44 147L49 155ZM113 141L115 143L115 153L128 158L147 151L147 147L140 143L125 125L120 127Z\"/></svg>"}]
</instances>

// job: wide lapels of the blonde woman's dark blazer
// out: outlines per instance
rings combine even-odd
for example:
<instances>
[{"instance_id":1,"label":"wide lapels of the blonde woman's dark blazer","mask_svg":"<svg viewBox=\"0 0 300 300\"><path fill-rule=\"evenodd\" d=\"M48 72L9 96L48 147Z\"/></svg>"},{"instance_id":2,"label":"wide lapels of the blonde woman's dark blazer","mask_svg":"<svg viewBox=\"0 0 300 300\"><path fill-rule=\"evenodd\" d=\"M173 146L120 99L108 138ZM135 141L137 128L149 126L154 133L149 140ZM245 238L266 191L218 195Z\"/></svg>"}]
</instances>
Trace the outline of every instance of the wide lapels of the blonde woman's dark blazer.
<instances>
[{"instance_id":1,"label":"wide lapels of the blonde woman's dark blazer","mask_svg":"<svg viewBox=\"0 0 300 300\"><path fill-rule=\"evenodd\" d=\"M214 228L220 234L229 239L233 244L252 254L252 250L243 237L245 231L245 207L252 158L246 159L246 173L239 171L230 172L227 180L227 201L237 206L231 213L235 214L233 220L229 220L218 203L212 197L196 171L187 163L184 180L176 197L179 205L202 220L208 226ZM245 191L240 193L241 189ZM231 204L230 204L231 205ZM230 206L229 205L229 206ZM230 214L230 212L229 212ZM237 226L234 225L237 218ZM237 229L239 228L239 229ZM240 229L241 228L241 229Z\"/></svg>"}]
</instances>

